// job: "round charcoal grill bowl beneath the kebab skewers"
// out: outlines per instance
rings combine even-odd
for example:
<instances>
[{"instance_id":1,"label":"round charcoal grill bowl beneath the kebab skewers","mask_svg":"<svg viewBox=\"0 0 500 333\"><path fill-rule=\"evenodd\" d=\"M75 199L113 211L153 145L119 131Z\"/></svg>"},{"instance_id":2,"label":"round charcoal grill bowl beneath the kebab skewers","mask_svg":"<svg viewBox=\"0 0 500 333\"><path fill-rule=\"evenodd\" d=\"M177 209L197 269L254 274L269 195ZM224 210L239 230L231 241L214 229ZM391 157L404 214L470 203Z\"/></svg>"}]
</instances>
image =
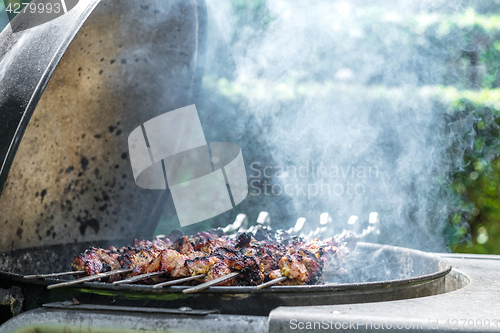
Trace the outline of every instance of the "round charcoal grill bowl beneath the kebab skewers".
<instances>
[{"instance_id":1,"label":"round charcoal grill bowl beneath the kebab skewers","mask_svg":"<svg viewBox=\"0 0 500 333\"><path fill-rule=\"evenodd\" d=\"M451 270L448 263L433 254L359 243L346 257L342 274L326 267L321 284L311 286L274 286L260 290L255 287L210 287L198 293L183 294L182 290L188 287L153 289L149 285L86 282L47 290L47 285L64 280L26 280L22 277L24 274L65 271L73 254L90 245L96 244L47 246L3 253L0 276L6 283L10 281L21 288L36 290L39 298L28 301L34 307L49 299L76 298L82 304L190 307L228 314L267 315L278 306L363 303L436 295L446 291L445 276Z\"/></svg>"}]
</instances>

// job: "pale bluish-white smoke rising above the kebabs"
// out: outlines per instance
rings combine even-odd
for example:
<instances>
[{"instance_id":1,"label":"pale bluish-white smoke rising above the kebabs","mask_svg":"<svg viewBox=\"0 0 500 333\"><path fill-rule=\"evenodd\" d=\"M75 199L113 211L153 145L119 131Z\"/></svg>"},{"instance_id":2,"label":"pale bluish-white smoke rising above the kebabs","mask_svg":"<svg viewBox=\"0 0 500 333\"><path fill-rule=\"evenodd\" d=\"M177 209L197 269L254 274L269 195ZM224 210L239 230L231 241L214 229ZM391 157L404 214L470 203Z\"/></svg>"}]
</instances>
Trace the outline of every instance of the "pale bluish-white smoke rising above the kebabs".
<instances>
[{"instance_id":1,"label":"pale bluish-white smoke rising above the kebabs","mask_svg":"<svg viewBox=\"0 0 500 333\"><path fill-rule=\"evenodd\" d=\"M267 210L282 227L329 212L338 231L375 211L377 241L444 250L474 117L435 103L434 87L460 79L445 49L467 45L422 31L461 2L207 5L200 113L207 139L242 146L251 193L236 213Z\"/></svg>"}]
</instances>

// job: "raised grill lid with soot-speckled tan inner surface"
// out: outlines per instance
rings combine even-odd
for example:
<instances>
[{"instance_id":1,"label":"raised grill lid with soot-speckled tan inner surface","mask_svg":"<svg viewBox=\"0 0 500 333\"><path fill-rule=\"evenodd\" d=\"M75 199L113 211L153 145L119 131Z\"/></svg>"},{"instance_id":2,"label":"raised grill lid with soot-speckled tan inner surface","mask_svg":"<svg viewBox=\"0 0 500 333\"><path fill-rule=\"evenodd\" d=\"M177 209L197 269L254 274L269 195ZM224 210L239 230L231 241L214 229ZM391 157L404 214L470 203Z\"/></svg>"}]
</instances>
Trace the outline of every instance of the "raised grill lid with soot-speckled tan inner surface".
<instances>
[{"instance_id":1,"label":"raised grill lid with soot-speckled tan inner surface","mask_svg":"<svg viewBox=\"0 0 500 333\"><path fill-rule=\"evenodd\" d=\"M175 214L135 184L127 138L196 102L205 26L201 0L81 0L0 34L0 250L147 238Z\"/></svg>"}]
</instances>

